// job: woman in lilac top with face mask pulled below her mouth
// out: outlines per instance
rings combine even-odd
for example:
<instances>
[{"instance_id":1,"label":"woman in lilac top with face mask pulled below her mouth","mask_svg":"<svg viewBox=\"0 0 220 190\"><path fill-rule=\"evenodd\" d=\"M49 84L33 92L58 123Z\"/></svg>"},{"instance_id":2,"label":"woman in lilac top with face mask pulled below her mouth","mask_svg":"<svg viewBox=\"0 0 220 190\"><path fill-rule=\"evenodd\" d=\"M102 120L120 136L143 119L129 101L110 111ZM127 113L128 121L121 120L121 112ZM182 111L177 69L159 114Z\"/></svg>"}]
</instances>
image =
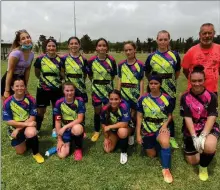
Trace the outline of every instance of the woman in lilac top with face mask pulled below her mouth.
<instances>
[{"instance_id":1,"label":"woman in lilac top with face mask pulled below her mouth","mask_svg":"<svg viewBox=\"0 0 220 190\"><path fill-rule=\"evenodd\" d=\"M3 100L13 94L11 84L16 77L25 79L25 83L28 84L31 63L34 59L34 53L31 51L33 44L29 33L26 30L18 30L15 35L12 51L9 54L7 72L1 79Z\"/></svg>"}]
</instances>

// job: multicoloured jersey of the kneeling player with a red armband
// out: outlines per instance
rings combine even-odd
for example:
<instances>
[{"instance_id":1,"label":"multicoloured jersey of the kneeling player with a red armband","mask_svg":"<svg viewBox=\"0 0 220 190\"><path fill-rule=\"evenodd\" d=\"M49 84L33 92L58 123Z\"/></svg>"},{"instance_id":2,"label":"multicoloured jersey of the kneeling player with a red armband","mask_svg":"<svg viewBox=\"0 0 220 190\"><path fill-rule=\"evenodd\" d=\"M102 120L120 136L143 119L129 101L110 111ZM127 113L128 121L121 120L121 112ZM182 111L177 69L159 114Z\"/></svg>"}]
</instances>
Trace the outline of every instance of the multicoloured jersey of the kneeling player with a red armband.
<instances>
[{"instance_id":1,"label":"multicoloured jersey of the kneeling player with a red armband","mask_svg":"<svg viewBox=\"0 0 220 190\"><path fill-rule=\"evenodd\" d=\"M77 119L77 115L85 113L85 104L81 99L76 98L72 103L67 103L64 97L57 100L53 109L53 115L57 120L62 120L63 124L67 124Z\"/></svg>"}]
</instances>

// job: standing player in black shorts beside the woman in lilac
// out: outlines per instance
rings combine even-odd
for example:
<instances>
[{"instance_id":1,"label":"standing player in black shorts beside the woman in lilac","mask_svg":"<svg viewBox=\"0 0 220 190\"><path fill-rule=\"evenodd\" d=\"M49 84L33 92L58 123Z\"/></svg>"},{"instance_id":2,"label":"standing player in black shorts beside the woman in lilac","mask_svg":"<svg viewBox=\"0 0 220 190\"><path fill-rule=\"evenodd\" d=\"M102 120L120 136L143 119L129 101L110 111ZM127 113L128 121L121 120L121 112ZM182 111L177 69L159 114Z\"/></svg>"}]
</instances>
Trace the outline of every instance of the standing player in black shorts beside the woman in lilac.
<instances>
[{"instance_id":1,"label":"standing player in black shorts beside the woman in lilac","mask_svg":"<svg viewBox=\"0 0 220 190\"><path fill-rule=\"evenodd\" d=\"M35 63L35 76L39 79L37 87L37 130L42 125L47 106L52 103L54 107L56 101L62 97L61 88L61 66L62 61L56 53L57 42L54 39L46 41L47 53L39 56ZM55 121L53 118L52 137L57 137Z\"/></svg>"}]
</instances>

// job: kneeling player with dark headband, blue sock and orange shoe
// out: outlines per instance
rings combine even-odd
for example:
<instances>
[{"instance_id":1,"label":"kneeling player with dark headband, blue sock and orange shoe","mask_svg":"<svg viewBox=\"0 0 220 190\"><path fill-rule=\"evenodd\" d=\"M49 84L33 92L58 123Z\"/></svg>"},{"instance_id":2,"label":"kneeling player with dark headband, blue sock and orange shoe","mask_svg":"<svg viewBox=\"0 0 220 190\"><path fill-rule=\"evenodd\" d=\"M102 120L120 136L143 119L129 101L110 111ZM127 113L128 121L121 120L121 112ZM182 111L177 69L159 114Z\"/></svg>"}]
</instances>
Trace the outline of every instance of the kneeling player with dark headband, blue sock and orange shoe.
<instances>
[{"instance_id":1,"label":"kneeling player with dark headband, blue sock and orange shoe","mask_svg":"<svg viewBox=\"0 0 220 190\"><path fill-rule=\"evenodd\" d=\"M138 100L137 142L143 145L149 157L156 156L156 145L160 145L160 156L164 181L171 183L171 149L168 124L172 119L173 105L170 97L162 93L162 80L152 73L149 77L148 91ZM143 138L142 138L143 136Z\"/></svg>"}]
</instances>

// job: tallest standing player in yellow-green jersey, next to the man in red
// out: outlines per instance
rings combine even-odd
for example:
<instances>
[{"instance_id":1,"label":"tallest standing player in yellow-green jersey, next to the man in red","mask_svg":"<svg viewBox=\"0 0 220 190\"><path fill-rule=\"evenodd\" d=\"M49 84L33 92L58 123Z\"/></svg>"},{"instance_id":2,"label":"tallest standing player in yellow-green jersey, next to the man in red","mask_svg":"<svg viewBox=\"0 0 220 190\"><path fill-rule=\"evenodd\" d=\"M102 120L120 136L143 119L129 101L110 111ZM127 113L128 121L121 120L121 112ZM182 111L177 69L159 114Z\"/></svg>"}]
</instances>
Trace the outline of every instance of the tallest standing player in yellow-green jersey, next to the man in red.
<instances>
[{"instance_id":1,"label":"tallest standing player in yellow-green jersey, next to the man in red","mask_svg":"<svg viewBox=\"0 0 220 190\"><path fill-rule=\"evenodd\" d=\"M166 30L162 30L157 34L158 50L150 54L145 63L145 71L148 76L151 72L157 72L163 79L161 85L162 92L168 94L176 104L176 80L180 74L180 56L175 51L169 50L170 34ZM170 128L170 144L173 148L178 148L178 144L174 138L175 126L173 119L169 123Z\"/></svg>"}]
</instances>

